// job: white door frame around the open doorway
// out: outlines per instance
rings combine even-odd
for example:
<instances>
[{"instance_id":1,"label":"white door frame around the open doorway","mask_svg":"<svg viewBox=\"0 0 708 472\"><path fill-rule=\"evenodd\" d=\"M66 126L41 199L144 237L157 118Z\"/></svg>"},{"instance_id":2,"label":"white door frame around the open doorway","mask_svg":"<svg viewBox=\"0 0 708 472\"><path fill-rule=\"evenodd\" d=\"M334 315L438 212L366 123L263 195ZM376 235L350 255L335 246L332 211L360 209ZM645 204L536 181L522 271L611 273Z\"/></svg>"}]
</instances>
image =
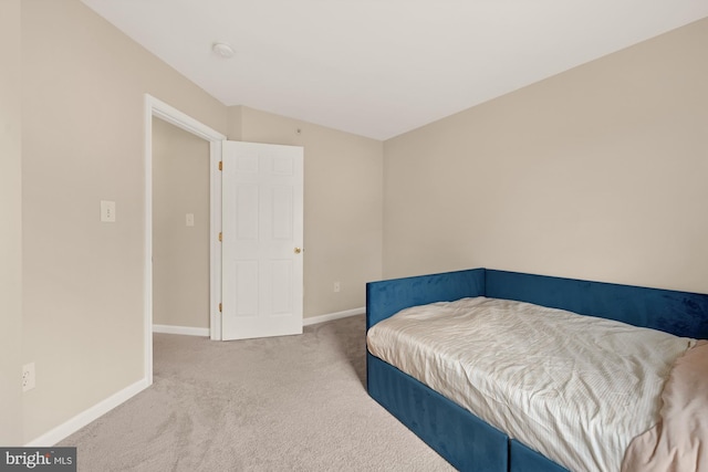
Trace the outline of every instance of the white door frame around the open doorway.
<instances>
[{"instance_id":1,"label":"white door frame around the open doorway","mask_svg":"<svg viewBox=\"0 0 708 472\"><path fill-rule=\"evenodd\" d=\"M209 333L221 339L221 141L227 137L179 109L145 94L145 259L144 259L144 375L153 384L153 117L160 118L209 141Z\"/></svg>"}]
</instances>

